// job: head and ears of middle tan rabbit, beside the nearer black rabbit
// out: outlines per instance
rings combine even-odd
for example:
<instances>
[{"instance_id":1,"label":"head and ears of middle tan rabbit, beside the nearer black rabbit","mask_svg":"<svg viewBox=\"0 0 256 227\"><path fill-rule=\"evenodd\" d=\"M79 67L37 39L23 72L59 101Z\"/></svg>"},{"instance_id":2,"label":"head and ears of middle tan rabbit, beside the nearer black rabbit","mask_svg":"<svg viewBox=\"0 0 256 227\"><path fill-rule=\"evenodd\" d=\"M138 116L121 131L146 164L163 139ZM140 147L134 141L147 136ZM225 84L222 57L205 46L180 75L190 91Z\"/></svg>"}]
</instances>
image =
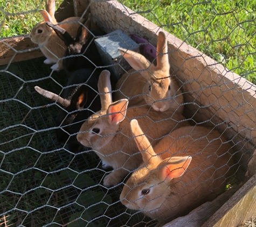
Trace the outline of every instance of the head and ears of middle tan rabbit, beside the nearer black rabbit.
<instances>
[{"instance_id":1,"label":"head and ears of middle tan rabbit, beside the nearer black rabbit","mask_svg":"<svg viewBox=\"0 0 256 227\"><path fill-rule=\"evenodd\" d=\"M119 123L126 116L128 100L112 102L110 73L103 70L99 77L98 89L101 110L90 116L81 126L77 135L78 141L84 146L100 149L109 143L119 128Z\"/></svg>"}]
</instances>

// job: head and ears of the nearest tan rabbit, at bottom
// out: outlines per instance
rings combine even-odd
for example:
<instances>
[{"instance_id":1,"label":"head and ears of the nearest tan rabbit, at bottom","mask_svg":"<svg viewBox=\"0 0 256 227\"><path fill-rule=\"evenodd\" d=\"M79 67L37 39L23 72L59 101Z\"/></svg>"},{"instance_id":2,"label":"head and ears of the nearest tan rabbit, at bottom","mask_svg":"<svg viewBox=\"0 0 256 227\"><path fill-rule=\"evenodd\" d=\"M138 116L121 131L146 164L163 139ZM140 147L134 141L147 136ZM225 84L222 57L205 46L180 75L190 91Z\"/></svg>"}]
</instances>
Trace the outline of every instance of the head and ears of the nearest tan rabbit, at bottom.
<instances>
[{"instance_id":1,"label":"head and ears of the nearest tan rabbit, at bottom","mask_svg":"<svg viewBox=\"0 0 256 227\"><path fill-rule=\"evenodd\" d=\"M143 164L130 176L120 195L127 208L141 210L155 219L171 195L170 181L181 177L188 168L191 157L172 157L162 160L157 155L137 120L130 122L134 139L142 154ZM167 208L168 209L168 208Z\"/></svg>"}]
</instances>

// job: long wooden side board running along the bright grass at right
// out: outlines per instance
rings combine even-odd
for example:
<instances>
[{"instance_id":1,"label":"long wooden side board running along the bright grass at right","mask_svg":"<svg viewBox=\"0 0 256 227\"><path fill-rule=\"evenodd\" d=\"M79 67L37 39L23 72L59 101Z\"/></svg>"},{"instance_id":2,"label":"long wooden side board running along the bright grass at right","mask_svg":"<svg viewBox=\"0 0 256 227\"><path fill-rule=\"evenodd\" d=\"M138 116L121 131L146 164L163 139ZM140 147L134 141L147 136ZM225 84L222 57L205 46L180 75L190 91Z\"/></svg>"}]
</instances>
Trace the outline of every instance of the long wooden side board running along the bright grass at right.
<instances>
[{"instance_id":1,"label":"long wooden side board running along the bright grass at right","mask_svg":"<svg viewBox=\"0 0 256 227\"><path fill-rule=\"evenodd\" d=\"M105 32L121 29L127 35L146 38L153 45L157 42L156 34L164 31L116 1L93 1L91 14L93 22ZM189 117L197 113L193 116L196 120L210 119L215 125L222 124L222 131L232 127L229 139L237 132L240 137L233 139L234 144L240 143L241 138L256 144L256 87L172 34L167 37L172 71L182 81L185 96L195 103L193 111L188 111Z\"/></svg>"}]
</instances>

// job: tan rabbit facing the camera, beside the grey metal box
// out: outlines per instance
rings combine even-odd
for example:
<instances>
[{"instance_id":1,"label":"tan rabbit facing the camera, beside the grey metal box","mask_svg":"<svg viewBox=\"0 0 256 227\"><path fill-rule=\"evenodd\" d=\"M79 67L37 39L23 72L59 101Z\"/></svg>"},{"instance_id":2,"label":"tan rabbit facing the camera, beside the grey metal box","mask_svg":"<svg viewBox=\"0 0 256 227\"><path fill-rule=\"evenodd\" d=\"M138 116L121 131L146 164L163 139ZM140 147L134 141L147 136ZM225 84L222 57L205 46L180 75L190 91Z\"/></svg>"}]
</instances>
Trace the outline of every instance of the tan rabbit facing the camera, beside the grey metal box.
<instances>
[{"instance_id":1,"label":"tan rabbit facing the camera, beside the grey metal box","mask_svg":"<svg viewBox=\"0 0 256 227\"><path fill-rule=\"evenodd\" d=\"M117 100L129 98L131 106L144 99L156 111L171 109L172 112L182 113L183 95L176 80L170 75L167 38L162 31L158 34L156 50L158 55L155 66L139 53L119 49L133 69L123 74L117 82L116 89L120 91L116 94L116 98Z\"/></svg>"}]
</instances>

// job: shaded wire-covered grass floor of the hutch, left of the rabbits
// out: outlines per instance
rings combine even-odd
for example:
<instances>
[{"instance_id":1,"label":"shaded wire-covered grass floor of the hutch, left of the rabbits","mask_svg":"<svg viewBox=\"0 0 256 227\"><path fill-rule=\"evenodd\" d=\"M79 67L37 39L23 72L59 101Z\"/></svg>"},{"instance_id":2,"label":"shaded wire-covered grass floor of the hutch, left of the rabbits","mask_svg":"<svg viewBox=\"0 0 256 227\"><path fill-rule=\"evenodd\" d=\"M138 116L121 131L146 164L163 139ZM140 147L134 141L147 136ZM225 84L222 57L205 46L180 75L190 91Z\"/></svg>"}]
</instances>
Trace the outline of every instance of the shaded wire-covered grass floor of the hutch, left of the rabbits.
<instances>
[{"instance_id":1,"label":"shaded wire-covered grass floor of the hutch, left of the rabbits","mask_svg":"<svg viewBox=\"0 0 256 227\"><path fill-rule=\"evenodd\" d=\"M8 188L0 194L0 209L17 208L0 217L0 223L5 218L9 225L43 226L81 216L67 226L153 226L155 222L130 215L119 202L121 186L102 186L106 171L94 152L73 154L58 143L54 123L58 107L34 86L59 94L59 84L64 86L67 77L52 72L44 59L0 66L5 101L0 105L0 191Z\"/></svg>"}]
</instances>

